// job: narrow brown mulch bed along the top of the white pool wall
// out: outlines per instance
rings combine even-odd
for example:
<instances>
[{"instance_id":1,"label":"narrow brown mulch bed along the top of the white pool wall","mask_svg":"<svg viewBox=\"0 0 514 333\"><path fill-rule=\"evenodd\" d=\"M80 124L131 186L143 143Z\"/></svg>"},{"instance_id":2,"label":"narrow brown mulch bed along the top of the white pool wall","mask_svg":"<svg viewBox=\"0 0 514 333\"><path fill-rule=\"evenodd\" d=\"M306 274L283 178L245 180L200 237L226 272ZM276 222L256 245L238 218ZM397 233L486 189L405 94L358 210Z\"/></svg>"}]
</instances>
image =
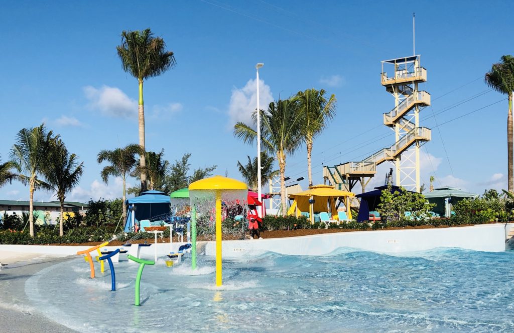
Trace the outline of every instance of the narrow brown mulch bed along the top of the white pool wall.
<instances>
[{"instance_id":1,"label":"narrow brown mulch bed along the top of the white pool wall","mask_svg":"<svg viewBox=\"0 0 514 333\"><path fill-rule=\"evenodd\" d=\"M452 226L452 227L468 227L472 226L473 224L463 224L458 226ZM416 226L416 227L388 227L380 230L410 230L410 229L441 229L441 228L449 228L450 226L442 225L442 226L430 226L430 225L423 225L423 226ZM351 231L373 231L373 230L356 230L356 229L297 229L297 230L271 230L271 231L264 231L261 232L262 238L285 238L285 237L298 237L298 236L309 236L313 234L323 234L323 233L335 233L335 232L351 232ZM245 233L245 238L249 238L249 232L247 231ZM239 240L242 239L242 234L223 234L223 240ZM214 241L215 235L200 235L196 238L198 242L201 241ZM148 242L152 244L154 242L154 239L138 239L132 243L134 244L142 244L144 242ZM169 243L170 238L165 237L163 239L157 238L157 243ZM173 242L178 242L177 237L173 237ZM89 245L89 246L95 246L98 244L101 244L102 242L86 242L86 243L66 243L66 244L48 244L48 245L70 245L70 246L76 246L76 245ZM112 241L109 243L111 246L121 246L125 242L121 241Z\"/></svg>"}]
</instances>

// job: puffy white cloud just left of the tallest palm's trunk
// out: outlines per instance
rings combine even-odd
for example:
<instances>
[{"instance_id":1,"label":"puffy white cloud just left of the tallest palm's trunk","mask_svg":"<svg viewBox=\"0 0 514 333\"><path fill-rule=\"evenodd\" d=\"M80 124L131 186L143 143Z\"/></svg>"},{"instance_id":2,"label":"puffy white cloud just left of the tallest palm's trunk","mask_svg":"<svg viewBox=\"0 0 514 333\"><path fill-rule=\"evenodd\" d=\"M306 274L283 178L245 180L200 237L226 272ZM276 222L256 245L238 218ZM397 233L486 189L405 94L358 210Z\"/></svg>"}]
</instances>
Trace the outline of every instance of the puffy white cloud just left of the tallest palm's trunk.
<instances>
[{"instance_id":1,"label":"puffy white cloud just left of the tallest palm's trunk","mask_svg":"<svg viewBox=\"0 0 514 333\"><path fill-rule=\"evenodd\" d=\"M104 115L132 119L137 115L136 100L128 97L119 88L87 86L84 87L84 94L89 100L89 108L98 109Z\"/></svg>"}]
</instances>

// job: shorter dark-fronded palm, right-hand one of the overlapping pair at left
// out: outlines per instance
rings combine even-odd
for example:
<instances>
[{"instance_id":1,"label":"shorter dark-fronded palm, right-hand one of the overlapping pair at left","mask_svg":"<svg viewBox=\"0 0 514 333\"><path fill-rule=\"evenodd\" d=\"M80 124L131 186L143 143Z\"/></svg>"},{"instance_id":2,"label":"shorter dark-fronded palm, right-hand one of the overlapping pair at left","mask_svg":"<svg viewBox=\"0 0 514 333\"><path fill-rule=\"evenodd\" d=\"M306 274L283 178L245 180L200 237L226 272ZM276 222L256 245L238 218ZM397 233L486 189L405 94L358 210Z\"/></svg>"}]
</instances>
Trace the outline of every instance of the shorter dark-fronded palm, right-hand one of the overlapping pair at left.
<instances>
[{"instance_id":1,"label":"shorter dark-fronded palm, right-hand one of the overlapping pair at left","mask_svg":"<svg viewBox=\"0 0 514 333\"><path fill-rule=\"evenodd\" d=\"M84 162L78 161L76 154L70 154L64 142L55 140L50 146L47 166L44 169L45 178L54 191L61 204L61 218L59 219L59 236L64 236L64 200L66 194L79 184L84 171Z\"/></svg>"}]
</instances>

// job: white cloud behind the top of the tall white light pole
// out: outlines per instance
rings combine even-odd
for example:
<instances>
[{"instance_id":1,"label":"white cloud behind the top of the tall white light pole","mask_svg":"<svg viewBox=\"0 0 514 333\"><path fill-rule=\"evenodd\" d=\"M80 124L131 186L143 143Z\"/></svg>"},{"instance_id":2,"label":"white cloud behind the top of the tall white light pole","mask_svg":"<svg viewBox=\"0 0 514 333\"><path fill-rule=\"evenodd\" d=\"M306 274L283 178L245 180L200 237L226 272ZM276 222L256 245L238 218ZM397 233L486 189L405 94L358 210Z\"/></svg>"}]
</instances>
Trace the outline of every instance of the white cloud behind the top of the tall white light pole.
<instances>
[{"instance_id":1,"label":"white cloud behind the top of the tall white light pole","mask_svg":"<svg viewBox=\"0 0 514 333\"><path fill-rule=\"evenodd\" d=\"M232 128L237 122L251 124L252 112L257 108L256 79L249 80L243 88L233 88L228 107L229 123ZM273 101L273 95L268 85L259 80L259 103L261 110L268 108Z\"/></svg>"}]
</instances>

